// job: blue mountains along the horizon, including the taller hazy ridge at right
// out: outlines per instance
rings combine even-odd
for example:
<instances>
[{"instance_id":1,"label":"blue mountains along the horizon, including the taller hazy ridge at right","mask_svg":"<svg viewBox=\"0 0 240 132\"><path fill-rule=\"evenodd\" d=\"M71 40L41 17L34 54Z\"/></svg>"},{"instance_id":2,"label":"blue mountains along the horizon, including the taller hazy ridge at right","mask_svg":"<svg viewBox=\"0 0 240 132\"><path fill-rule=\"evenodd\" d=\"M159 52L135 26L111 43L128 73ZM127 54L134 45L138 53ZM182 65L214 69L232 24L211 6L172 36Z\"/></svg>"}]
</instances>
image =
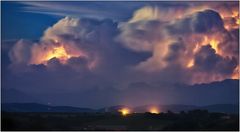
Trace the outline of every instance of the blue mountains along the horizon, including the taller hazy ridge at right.
<instances>
[{"instance_id":1,"label":"blue mountains along the horizon, including the taller hazy ridge at right","mask_svg":"<svg viewBox=\"0 0 240 132\"><path fill-rule=\"evenodd\" d=\"M142 84L141 84L142 85ZM189 93L188 97L181 96L179 99L188 98L186 100L195 99L195 102L201 101L205 104L184 105L191 104L190 101L185 103L170 104L170 105L154 105L158 107L161 112L168 110L173 112L188 111L193 109L206 109L210 112L226 112L238 113L239 110L239 80L226 79L219 82L212 82L209 84L195 84L195 85L178 85L178 93ZM198 91L195 91L197 89ZM208 90L208 92L206 92ZM217 91L216 91L217 90ZM17 89L2 89L2 111L10 112L116 112L120 108L127 107L123 105L104 107L101 109L90 109L69 106L53 106L48 105L42 99L36 98L31 94L27 94ZM137 91L136 91L137 92ZM234 93L234 94L232 94ZM184 94L182 94L184 95ZM79 96L79 95L78 95ZM160 96L160 95L159 95ZM212 97L212 101L209 98ZM224 101L222 101L224 100ZM219 103L221 102L221 103ZM159 102L160 104L160 102ZM109 106L109 105L106 105ZM131 108L134 112L146 112L151 105L143 105Z\"/></svg>"}]
</instances>

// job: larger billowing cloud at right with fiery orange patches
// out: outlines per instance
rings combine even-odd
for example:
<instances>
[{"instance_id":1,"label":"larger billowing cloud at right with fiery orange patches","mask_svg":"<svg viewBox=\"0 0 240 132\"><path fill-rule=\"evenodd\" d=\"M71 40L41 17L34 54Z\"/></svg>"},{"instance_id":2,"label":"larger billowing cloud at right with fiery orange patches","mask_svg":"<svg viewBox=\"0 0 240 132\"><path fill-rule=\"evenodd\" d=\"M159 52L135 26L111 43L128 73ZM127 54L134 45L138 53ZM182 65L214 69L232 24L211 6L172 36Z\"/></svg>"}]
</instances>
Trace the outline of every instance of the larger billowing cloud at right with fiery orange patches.
<instances>
[{"instance_id":1,"label":"larger billowing cloud at right with fiery orange patches","mask_svg":"<svg viewBox=\"0 0 240 132\"><path fill-rule=\"evenodd\" d=\"M125 47L152 53L152 57L134 69L152 74L178 65L179 70L190 75L190 83L236 77L239 32L226 19L237 23L234 14L238 11L230 8L231 12L226 12L216 5L194 8L180 9L182 15L176 13L165 18L160 8L147 6L120 26L119 41Z\"/></svg>"}]
</instances>

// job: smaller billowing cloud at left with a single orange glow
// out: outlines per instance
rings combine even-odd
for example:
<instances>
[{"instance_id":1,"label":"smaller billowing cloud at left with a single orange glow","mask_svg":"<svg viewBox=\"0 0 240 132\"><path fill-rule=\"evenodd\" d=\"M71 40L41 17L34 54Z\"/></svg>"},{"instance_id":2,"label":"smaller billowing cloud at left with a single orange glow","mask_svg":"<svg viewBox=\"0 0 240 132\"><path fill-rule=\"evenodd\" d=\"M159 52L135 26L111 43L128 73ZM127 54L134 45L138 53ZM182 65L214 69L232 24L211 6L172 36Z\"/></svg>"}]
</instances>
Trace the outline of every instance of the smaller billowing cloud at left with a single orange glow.
<instances>
[{"instance_id":1,"label":"smaller billowing cloud at left with a single orange glow","mask_svg":"<svg viewBox=\"0 0 240 132\"><path fill-rule=\"evenodd\" d=\"M99 53L102 52L99 50L105 43L109 43L109 34L113 32L111 30L114 30L114 26L111 20L65 17L49 27L39 42L17 42L10 57L13 63L46 66L52 64L55 58L61 65L73 69L77 69L75 65L84 60L79 67L85 65L86 69L91 70L99 63Z\"/></svg>"}]
</instances>

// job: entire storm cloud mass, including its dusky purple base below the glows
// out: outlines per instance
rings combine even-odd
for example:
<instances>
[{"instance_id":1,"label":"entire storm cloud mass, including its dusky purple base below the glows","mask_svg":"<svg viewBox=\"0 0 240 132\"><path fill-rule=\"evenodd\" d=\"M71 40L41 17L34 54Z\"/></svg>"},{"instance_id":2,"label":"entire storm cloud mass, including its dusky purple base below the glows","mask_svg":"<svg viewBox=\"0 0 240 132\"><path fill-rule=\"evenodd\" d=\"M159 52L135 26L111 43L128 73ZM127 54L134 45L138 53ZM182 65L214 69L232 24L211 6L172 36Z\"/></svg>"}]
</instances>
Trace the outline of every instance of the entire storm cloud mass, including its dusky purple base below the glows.
<instances>
[{"instance_id":1,"label":"entire storm cloud mass, including its dusky purple base below the glows","mask_svg":"<svg viewBox=\"0 0 240 132\"><path fill-rule=\"evenodd\" d=\"M117 97L112 102L132 104L138 99L131 95L144 97L144 103L176 95L166 101L174 103L180 96L172 90L175 84L239 78L234 4L160 5L142 6L124 21L66 16L39 40L17 41L8 51L6 87L59 97L70 91L91 102Z\"/></svg>"}]
</instances>

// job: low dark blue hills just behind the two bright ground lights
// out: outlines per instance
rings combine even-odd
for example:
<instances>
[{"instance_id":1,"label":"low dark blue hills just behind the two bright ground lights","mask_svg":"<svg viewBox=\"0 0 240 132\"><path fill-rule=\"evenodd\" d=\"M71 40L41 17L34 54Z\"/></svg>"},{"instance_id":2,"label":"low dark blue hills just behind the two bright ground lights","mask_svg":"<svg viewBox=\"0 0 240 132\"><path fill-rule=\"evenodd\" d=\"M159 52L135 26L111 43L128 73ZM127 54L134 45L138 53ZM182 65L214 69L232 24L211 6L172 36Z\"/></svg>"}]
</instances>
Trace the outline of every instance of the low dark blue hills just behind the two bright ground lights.
<instances>
[{"instance_id":1,"label":"low dark blue hills just behind the two bright ground lights","mask_svg":"<svg viewBox=\"0 0 240 132\"><path fill-rule=\"evenodd\" d=\"M118 105L110 106L101 109L90 109L90 108L79 108L72 106L51 106L38 103L3 103L2 111L5 112L118 112L119 109L128 107L132 112L144 113L148 111L148 108L151 105L144 105L130 108L128 106ZM181 105L181 104L172 104L172 105L157 105L160 109L160 112L181 112L189 111L194 109L208 110L209 112L222 112L222 113L235 113L238 114L239 108L237 104L214 104L207 106L194 106L194 105Z\"/></svg>"}]
</instances>

